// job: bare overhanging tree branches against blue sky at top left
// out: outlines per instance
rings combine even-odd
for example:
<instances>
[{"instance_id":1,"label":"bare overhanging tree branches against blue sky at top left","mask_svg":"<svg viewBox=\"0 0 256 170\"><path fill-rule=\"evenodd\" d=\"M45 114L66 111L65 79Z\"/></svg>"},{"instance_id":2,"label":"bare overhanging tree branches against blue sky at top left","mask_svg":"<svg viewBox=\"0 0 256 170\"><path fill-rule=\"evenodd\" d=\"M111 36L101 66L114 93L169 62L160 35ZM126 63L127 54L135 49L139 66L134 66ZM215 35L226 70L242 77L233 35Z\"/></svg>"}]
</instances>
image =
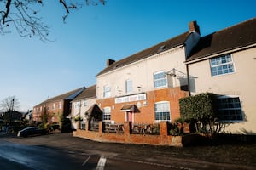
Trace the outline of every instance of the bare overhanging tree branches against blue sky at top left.
<instances>
[{"instance_id":1,"label":"bare overhanging tree branches against blue sky at top left","mask_svg":"<svg viewBox=\"0 0 256 170\"><path fill-rule=\"evenodd\" d=\"M52 0L53 1L53 0ZM70 10L82 8L86 5L104 5L105 0L56 0L60 2L66 14L65 22ZM42 41L49 41L49 26L42 22L38 15L39 8L44 7L44 0L0 0L0 33L9 33L14 26L21 37L38 36Z\"/></svg>"}]
</instances>

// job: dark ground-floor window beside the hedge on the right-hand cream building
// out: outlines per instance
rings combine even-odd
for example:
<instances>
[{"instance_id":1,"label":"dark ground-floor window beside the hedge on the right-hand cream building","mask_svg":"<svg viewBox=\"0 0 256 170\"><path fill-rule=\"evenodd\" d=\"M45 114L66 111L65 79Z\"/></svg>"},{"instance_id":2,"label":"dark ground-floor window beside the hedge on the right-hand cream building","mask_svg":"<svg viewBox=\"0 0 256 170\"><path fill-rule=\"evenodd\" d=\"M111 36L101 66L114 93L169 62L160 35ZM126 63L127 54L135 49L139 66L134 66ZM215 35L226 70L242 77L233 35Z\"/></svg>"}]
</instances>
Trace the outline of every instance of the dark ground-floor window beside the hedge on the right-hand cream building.
<instances>
[{"instance_id":1,"label":"dark ground-floor window beside the hedge on the right-hand cream building","mask_svg":"<svg viewBox=\"0 0 256 170\"><path fill-rule=\"evenodd\" d=\"M220 101L220 100L224 100L224 99L226 100L226 102ZM238 99L238 101L236 99ZM232 103L230 101L232 101ZM220 113L222 111L227 111L228 113L225 113L225 115L223 115L224 113ZM234 111L234 113L233 113L233 111ZM239 96L233 96L233 95L219 96L217 98L217 114L218 114L219 122L243 122L244 116L242 114L241 100L240 100ZM221 115L223 117L227 116L229 118L223 119L223 118L220 118L219 115ZM241 118L231 119L231 117L241 117Z\"/></svg>"}]
</instances>

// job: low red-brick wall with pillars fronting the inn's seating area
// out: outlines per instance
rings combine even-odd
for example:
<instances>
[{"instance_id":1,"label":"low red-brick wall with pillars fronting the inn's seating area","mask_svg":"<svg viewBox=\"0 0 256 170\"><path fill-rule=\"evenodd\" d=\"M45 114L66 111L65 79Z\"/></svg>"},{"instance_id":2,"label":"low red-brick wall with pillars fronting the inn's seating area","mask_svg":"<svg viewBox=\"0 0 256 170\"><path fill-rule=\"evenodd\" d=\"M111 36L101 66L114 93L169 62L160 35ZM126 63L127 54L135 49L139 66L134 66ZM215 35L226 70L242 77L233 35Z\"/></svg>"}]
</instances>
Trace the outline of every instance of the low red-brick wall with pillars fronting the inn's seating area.
<instances>
[{"instance_id":1,"label":"low red-brick wall with pillars fronting the inn's seating area","mask_svg":"<svg viewBox=\"0 0 256 170\"><path fill-rule=\"evenodd\" d=\"M131 134L131 122L124 123L124 133L103 133L102 122L99 122L99 132L88 129L88 123L86 123L85 130L77 128L73 136L98 142L183 146L181 136L168 135L167 122L160 122L160 135Z\"/></svg>"}]
</instances>

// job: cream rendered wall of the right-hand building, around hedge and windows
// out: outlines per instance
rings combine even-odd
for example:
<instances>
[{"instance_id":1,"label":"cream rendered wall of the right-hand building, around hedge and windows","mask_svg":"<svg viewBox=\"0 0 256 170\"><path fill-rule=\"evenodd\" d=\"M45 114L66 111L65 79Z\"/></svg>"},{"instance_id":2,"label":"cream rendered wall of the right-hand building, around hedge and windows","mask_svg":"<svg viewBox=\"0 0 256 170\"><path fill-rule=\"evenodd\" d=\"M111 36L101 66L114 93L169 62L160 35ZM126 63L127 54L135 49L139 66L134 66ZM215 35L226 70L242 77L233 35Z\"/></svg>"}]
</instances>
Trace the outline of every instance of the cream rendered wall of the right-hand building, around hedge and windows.
<instances>
[{"instance_id":1,"label":"cream rendered wall of the right-hand building, around hedge and windows","mask_svg":"<svg viewBox=\"0 0 256 170\"><path fill-rule=\"evenodd\" d=\"M256 133L256 48L250 48L231 54L235 72L212 77L210 60L189 65L189 85L191 94L212 92L214 94L239 96L243 122L233 123L226 127L231 133Z\"/></svg>"}]
</instances>

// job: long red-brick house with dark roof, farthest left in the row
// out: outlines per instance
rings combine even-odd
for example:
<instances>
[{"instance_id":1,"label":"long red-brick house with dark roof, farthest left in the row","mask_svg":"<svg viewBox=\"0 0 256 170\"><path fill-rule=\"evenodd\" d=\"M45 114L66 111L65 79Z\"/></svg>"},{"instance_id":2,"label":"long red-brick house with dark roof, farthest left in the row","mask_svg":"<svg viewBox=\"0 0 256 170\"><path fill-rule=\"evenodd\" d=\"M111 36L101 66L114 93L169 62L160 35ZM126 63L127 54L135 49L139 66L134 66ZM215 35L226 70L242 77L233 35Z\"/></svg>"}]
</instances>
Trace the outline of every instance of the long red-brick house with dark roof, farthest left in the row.
<instances>
[{"instance_id":1,"label":"long red-brick house with dark roof, farthest left in the row","mask_svg":"<svg viewBox=\"0 0 256 170\"><path fill-rule=\"evenodd\" d=\"M84 91L85 87L46 99L44 102L33 107L32 120L41 122L41 116L47 114L49 123L58 123L60 116L67 117L71 112L70 102Z\"/></svg>"}]
</instances>

